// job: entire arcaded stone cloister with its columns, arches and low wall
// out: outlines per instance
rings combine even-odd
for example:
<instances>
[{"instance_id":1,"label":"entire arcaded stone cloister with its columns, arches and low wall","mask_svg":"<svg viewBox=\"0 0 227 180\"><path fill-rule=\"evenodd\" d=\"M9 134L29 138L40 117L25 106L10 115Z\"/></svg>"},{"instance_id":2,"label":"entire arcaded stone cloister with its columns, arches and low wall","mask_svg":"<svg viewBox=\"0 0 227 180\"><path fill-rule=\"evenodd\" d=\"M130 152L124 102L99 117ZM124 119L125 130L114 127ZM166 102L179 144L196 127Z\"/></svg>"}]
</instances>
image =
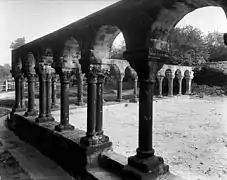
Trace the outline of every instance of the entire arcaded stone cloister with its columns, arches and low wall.
<instances>
[{"instance_id":1,"label":"entire arcaded stone cloister with its columns, arches and low wall","mask_svg":"<svg viewBox=\"0 0 227 180\"><path fill-rule=\"evenodd\" d=\"M103 164L115 174L120 174L122 179L170 176L169 166L162 157L155 155L153 148L154 86L155 82L158 83L158 95L161 97L166 79L168 96L173 96L176 79L177 94L181 95L182 79L185 78L185 94L191 93L193 69L170 64L171 55L166 39L170 30L186 14L210 5L221 6L224 10L227 7L224 0L122 0L13 50L12 75L16 99L9 127L81 179L99 179L90 169ZM124 60L110 59L111 45L120 32L126 42ZM111 72L117 79L117 101L122 100L124 76L130 76L134 81L134 102L137 102L137 81L139 83L139 144L137 153L128 157L125 165L119 160L121 156L114 158L111 155L114 152L111 137L102 129L105 121L102 110L103 84ZM54 121L51 114L51 109L57 105L56 74L61 83L60 124ZM83 78L87 78L86 132L69 122L69 82L73 75L78 80L78 105L83 103ZM34 102L37 76L38 112ZM27 108L24 104L25 78L28 80Z\"/></svg>"}]
</instances>

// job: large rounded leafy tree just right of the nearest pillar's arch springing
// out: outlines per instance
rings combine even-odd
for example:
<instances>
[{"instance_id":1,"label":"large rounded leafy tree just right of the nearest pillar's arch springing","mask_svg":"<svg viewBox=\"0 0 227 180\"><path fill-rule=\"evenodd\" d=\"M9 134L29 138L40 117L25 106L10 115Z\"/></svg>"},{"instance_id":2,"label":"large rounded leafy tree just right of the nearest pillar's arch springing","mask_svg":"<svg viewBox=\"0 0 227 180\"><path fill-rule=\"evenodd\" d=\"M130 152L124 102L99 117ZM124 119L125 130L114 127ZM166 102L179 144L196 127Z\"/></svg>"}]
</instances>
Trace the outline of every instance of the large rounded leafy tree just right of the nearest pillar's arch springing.
<instances>
[{"instance_id":1,"label":"large rounded leafy tree just right of the nearest pillar's arch springing","mask_svg":"<svg viewBox=\"0 0 227 180\"><path fill-rule=\"evenodd\" d=\"M175 28L168 37L173 62L180 65L200 65L209 53L202 32L191 25Z\"/></svg>"}]
</instances>

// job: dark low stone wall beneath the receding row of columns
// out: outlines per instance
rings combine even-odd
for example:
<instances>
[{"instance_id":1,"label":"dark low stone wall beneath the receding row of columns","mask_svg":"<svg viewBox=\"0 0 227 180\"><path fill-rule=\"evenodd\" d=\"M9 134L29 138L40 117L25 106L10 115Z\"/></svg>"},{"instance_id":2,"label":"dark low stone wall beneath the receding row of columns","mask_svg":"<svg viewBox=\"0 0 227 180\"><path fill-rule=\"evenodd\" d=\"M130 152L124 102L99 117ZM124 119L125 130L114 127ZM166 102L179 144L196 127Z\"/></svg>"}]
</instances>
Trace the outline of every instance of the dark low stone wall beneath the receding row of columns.
<instances>
[{"instance_id":1,"label":"dark low stone wall beneath the receding row of columns","mask_svg":"<svg viewBox=\"0 0 227 180\"><path fill-rule=\"evenodd\" d=\"M69 174L81 179L93 180L92 174L87 168L98 163L98 155L104 150L111 149L112 143L105 147L93 147L93 149L80 145L81 137L85 132L79 129L65 132L56 132L54 127L58 123L46 122L37 124L34 117L24 117L11 114L8 127L25 142L35 146L44 155L50 157Z\"/></svg>"}]
</instances>

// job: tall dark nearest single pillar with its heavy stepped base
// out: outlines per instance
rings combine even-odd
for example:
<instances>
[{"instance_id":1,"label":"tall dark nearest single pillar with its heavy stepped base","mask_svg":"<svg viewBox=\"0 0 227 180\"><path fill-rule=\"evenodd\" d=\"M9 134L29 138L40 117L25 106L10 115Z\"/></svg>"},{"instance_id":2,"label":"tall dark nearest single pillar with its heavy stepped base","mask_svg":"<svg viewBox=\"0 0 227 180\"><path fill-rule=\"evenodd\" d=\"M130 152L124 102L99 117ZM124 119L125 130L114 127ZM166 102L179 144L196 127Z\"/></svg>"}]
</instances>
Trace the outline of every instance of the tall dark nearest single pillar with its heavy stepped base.
<instances>
[{"instance_id":1,"label":"tall dark nearest single pillar with its heavy stepped base","mask_svg":"<svg viewBox=\"0 0 227 180\"><path fill-rule=\"evenodd\" d=\"M154 45L154 43L153 43ZM159 51L158 51L159 52ZM157 51L154 52L156 55ZM145 53L144 53L145 54ZM168 166L164 164L162 157L155 156L153 148L153 95L154 83L158 70L163 63L162 58L155 59L154 54L140 55L137 73L140 83L139 91L139 144L137 154L128 158L128 164L123 169L124 180L154 179L157 176L167 173ZM162 53L161 55L163 55ZM157 54L159 55L159 54ZM135 56L138 56L137 54ZM161 60L160 60L161 59Z\"/></svg>"}]
</instances>

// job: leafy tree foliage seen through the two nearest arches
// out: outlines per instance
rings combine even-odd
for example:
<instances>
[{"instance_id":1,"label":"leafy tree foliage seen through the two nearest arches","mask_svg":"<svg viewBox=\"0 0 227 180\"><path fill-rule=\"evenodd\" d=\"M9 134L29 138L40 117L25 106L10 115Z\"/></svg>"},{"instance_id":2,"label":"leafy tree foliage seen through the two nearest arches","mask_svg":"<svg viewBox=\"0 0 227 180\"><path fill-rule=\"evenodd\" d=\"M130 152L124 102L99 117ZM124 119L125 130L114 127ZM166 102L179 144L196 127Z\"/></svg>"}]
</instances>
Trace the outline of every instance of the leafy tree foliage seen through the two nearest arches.
<instances>
[{"instance_id":1,"label":"leafy tree foliage seen through the two nearest arches","mask_svg":"<svg viewBox=\"0 0 227 180\"><path fill-rule=\"evenodd\" d=\"M167 41L173 64L200 66L206 62L227 60L227 47L224 45L223 34L219 32L205 35L200 29L187 25L174 28ZM124 41L113 46L111 58L123 59L125 50Z\"/></svg>"}]
</instances>

